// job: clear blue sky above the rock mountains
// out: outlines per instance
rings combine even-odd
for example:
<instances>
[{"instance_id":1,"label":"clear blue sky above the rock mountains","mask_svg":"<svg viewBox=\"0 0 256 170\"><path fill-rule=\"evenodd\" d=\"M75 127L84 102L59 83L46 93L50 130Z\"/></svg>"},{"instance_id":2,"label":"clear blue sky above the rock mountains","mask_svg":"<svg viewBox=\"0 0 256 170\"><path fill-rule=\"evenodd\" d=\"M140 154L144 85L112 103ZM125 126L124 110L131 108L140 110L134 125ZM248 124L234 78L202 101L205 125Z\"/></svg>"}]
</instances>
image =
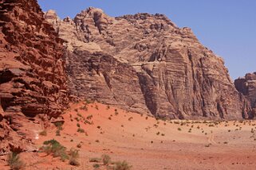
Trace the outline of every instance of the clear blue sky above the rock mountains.
<instances>
[{"instance_id":1,"label":"clear blue sky above the rock mountains","mask_svg":"<svg viewBox=\"0 0 256 170\"><path fill-rule=\"evenodd\" d=\"M188 26L203 45L222 56L232 79L256 71L256 0L38 0L42 10L74 17L89 6L112 17L165 14Z\"/></svg>"}]
</instances>

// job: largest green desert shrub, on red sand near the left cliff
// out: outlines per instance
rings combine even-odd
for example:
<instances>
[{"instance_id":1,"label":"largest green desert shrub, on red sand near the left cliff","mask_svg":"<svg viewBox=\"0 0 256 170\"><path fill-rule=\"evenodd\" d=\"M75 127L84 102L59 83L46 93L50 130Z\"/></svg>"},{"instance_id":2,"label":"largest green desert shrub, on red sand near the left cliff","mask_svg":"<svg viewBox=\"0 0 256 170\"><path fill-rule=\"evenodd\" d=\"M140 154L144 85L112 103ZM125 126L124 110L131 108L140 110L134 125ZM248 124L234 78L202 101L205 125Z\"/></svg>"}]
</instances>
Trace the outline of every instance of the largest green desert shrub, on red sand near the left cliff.
<instances>
[{"instance_id":1,"label":"largest green desert shrub, on red sand near the left cliff","mask_svg":"<svg viewBox=\"0 0 256 170\"><path fill-rule=\"evenodd\" d=\"M69 158L66 154L66 148L55 139L44 141L43 144L44 146L41 147L43 152L53 154L53 157L61 157L63 161Z\"/></svg>"}]
</instances>

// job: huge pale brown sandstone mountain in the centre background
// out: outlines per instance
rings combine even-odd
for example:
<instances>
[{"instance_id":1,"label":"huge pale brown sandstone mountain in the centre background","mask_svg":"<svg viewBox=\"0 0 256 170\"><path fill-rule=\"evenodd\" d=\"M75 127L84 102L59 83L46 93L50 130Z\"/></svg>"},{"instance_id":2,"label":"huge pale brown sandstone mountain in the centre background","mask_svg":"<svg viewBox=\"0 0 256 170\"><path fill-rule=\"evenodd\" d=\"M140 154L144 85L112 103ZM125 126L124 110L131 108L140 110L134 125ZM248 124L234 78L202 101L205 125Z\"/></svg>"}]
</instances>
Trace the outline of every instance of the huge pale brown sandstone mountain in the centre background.
<instances>
[{"instance_id":1,"label":"huge pale brown sandstone mountain in the centre background","mask_svg":"<svg viewBox=\"0 0 256 170\"><path fill-rule=\"evenodd\" d=\"M248 117L223 59L162 14L109 17L89 8L74 19L45 18L67 41L73 95L159 117Z\"/></svg>"}]
</instances>

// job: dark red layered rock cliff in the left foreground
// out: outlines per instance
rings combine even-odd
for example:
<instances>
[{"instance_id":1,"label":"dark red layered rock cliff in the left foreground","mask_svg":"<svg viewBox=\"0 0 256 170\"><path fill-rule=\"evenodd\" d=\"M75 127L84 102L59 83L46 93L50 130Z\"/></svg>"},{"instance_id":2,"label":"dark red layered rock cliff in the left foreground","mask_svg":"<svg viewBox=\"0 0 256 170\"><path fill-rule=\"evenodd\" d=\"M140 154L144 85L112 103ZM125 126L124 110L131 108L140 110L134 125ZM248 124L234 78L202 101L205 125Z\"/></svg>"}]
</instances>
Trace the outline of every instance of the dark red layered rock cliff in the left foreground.
<instances>
[{"instance_id":1,"label":"dark red layered rock cliff in the left foreground","mask_svg":"<svg viewBox=\"0 0 256 170\"><path fill-rule=\"evenodd\" d=\"M62 43L36 0L0 0L0 153L27 149L35 117L65 108Z\"/></svg>"}]
</instances>

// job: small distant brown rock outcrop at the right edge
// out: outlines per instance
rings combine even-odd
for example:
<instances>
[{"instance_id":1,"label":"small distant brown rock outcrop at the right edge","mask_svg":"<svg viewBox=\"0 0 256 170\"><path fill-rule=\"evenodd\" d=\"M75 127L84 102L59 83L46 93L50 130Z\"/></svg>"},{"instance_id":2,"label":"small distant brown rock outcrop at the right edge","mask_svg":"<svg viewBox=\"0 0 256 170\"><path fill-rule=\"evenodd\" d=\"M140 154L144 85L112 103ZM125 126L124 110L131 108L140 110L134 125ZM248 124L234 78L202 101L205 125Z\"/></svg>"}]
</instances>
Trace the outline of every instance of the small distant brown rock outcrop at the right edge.
<instances>
[{"instance_id":1,"label":"small distant brown rock outcrop at the right edge","mask_svg":"<svg viewBox=\"0 0 256 170\"><path fill-rule=\"evenodd\" d=\"M250 107L252 108L250 118L254 118L256 116L256 72L235 79L234 85L250 101Z\"/></svg>"}]
</instances>

